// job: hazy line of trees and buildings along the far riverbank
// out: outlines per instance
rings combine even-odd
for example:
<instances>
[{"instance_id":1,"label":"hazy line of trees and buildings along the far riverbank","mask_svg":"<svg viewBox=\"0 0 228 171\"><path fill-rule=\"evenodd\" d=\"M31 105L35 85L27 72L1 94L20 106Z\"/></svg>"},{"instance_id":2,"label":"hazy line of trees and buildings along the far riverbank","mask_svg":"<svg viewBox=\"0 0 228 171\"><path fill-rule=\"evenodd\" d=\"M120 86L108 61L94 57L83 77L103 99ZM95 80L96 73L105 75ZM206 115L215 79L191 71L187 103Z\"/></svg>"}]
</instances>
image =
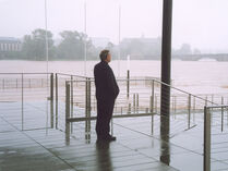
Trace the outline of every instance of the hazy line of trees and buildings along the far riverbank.
<instances>
[{"instance_id":1,"label":"hazy line of trees and buildings along the far riverbank","mask_svg":"<svg viewBox=\"0 0 228 171\"><path fill-rule=\"evenodd\" d=\"M161 39L154 38L125 38L120 45L108 42L106 47L95 47L92 39L84 33L77 30L63 30L60 34L61 40L56 44L50 30L37 28L29 35L25 35L22 40L21 51L0 52L0 59L21 59L21 60L46 60L48 49L49 60L97 60L103 48L109 49L113 59L125 59L128 54L135 60L159 60ZM46 40L47 36L47 40ZM46 41L48 44L46 44ZM48 48L46 47L48 45ZM200 51L196 51L200 53ZM172 49L172 53L182 56L191 54L191 46L183 44L180 49ZM124 60L123 59L123 60Z\"/></svg>"}]
</instances>

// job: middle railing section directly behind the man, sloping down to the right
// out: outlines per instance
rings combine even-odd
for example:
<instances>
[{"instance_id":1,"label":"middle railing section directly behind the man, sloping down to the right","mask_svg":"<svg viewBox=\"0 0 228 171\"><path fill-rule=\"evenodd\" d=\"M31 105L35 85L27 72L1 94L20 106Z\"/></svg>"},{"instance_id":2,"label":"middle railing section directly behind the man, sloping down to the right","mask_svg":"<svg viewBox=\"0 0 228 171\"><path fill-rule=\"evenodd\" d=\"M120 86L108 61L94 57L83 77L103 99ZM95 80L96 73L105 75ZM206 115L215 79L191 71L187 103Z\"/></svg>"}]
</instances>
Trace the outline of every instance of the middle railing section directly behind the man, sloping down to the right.
<instances>
[{"instance_id":1,"label":"middle railing section directly behind the man, sloping down to the right","mask_svg":"<svg viewBox=\"0 0 228 171\"><path fill-rule=\"evenodd\" d=\"M113 118L151 117L151 133L146 132L149 135L155 135L155 118L158 120L164 117L160 114L161 85L169 86L171 89L170 117L172 124L170 129L173 132L170 136L194 127L196 125L195 114L203 113L204 106L217 105L215 101L187 93L158 80L125 78L117 80L117 82L120 94L116 100ZM83 77L65 81L65 95L64 101L69 102L65 103L67 122L96 120L94 78ZM178 126L181 127L179 131ZM158 131L156 134L159 135Z\"/></svg>"}]
</instances>

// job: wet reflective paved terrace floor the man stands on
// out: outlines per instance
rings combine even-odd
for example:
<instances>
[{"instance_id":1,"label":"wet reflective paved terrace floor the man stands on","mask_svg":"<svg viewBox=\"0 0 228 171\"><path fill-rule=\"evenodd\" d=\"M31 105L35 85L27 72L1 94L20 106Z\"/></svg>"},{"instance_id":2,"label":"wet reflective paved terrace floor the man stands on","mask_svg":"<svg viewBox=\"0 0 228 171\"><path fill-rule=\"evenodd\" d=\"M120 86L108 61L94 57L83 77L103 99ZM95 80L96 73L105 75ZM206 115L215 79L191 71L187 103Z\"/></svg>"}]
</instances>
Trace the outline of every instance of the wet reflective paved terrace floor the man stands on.
<instances>
[{"instance_id":1,"label":"wet reflective paved terrace floor the man stands on","mask_svg":"<svg viewBox=\"0 0 228 171\"><path fill-rule=\"evenodd\" d=\"M97 143L95 121L91 131L85 122L65 124L63 110L57 115L49 102L25 102L23 112L20 102L0 102L0 171L203 170L202 114L190 130L184 115L171 117L165 139L158 117L153 135L149 117L115 119L117 142ZM212 157L219 161L213 160L212 170L228 170L228 144L219 139L228 141L226 134L213 139Z\"/></svg>"}]
</instances>

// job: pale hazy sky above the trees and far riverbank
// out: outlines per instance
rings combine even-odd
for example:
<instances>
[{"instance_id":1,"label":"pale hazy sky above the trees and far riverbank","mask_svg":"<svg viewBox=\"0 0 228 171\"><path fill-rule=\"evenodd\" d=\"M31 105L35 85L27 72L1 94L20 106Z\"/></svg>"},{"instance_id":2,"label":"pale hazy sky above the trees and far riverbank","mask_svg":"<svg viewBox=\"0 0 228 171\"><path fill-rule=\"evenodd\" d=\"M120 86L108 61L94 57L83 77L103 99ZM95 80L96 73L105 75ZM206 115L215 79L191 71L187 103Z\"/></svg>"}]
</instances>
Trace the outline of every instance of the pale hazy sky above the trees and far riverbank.
<instances>
[{"instance_id":1,"label":"pale hazy sky above the trees and far riverbank","mask_svg":"<svg viewBox=\"0 0 228 171\"><path fill-rule=\"evenodd\" d=\"M47 0L48 29L84 32L84 0ZM45 28L45 0L0 0L0 36L22 37ZM86 0L91 37L161 36L163 0ZM189 42L211 52L228 52L228 0L173 0L172 45Z\"/></svg>"}]
</instances>

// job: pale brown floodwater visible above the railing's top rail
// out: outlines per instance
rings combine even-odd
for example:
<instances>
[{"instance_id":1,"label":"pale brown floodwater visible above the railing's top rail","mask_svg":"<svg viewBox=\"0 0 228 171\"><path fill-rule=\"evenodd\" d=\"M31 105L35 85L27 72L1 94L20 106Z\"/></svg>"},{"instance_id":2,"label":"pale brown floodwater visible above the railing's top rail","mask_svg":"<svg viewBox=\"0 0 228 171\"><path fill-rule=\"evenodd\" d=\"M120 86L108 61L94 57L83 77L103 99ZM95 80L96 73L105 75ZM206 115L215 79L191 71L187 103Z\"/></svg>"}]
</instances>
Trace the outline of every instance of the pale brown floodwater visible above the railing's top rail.
<instances>
[{"instance_id":1,"label":"pale brown floodwater visible above the railing's top rail","mask_svg":"<svg viewBox=\"0 0 228 171\"><path fill-rule=\"evenodd\" d=\"M0 61L0 73L53 72L93 76L98 61ZM119 64L119 66L118 66ZM127 61L110 63L116 76L127 75ZM130 61L131 76L160 77L160 61ZM228 62L172 61L171 80L175 87L192 94L227 94Z\"/></svg>"}]
</instances>

